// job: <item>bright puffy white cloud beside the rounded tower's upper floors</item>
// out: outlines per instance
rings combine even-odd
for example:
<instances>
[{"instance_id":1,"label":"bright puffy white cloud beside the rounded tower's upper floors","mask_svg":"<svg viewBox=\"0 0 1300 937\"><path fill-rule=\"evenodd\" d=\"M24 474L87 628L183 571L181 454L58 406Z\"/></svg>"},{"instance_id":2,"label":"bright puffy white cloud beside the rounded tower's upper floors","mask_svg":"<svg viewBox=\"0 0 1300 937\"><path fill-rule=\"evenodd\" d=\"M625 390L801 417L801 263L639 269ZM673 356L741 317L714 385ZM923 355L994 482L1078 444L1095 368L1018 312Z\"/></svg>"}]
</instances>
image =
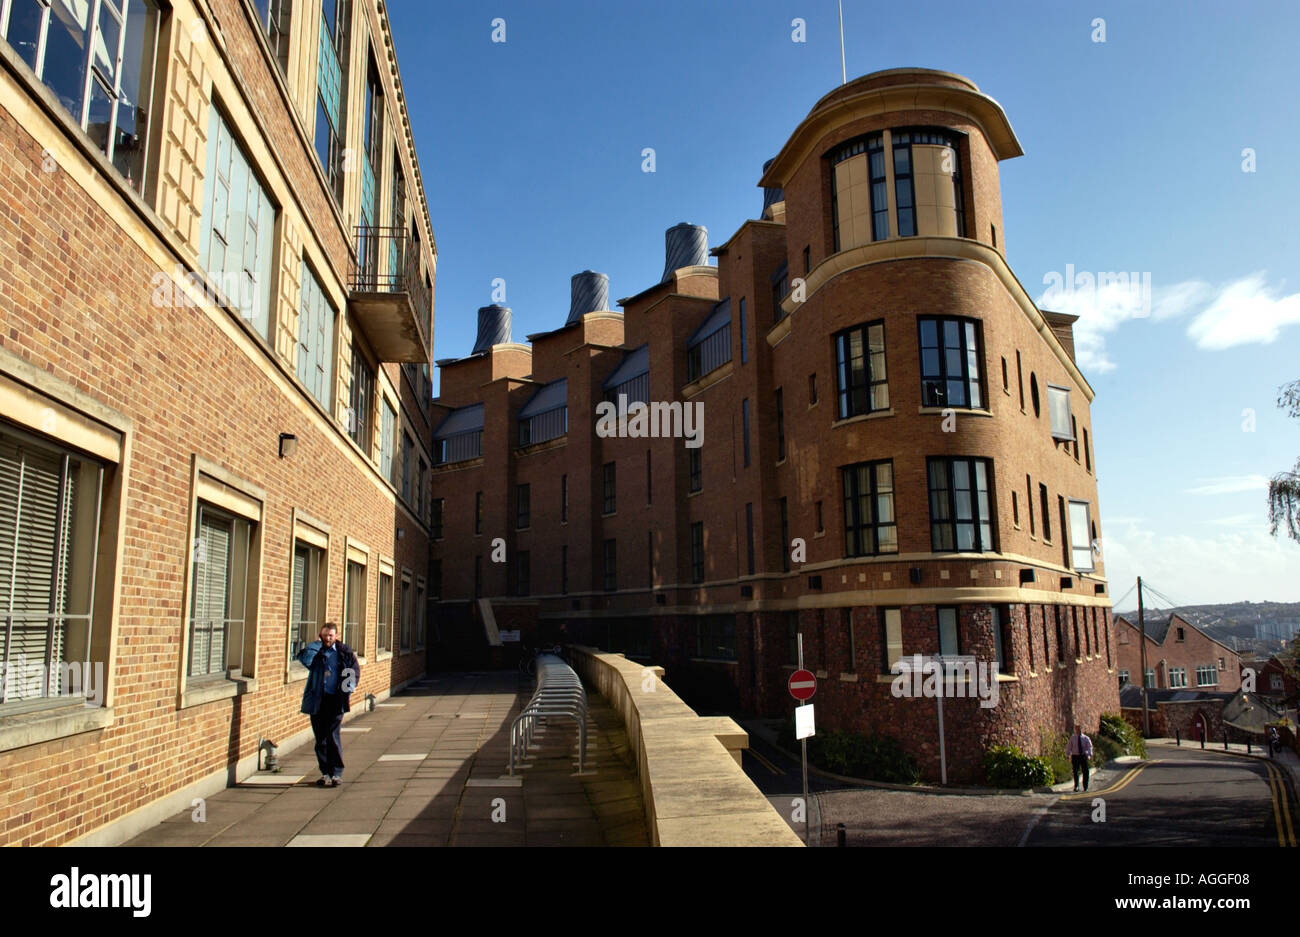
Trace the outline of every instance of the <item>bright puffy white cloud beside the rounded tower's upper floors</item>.
<instances>
[{"instance_id":1,"label":"bright puffy white cloud beside the rounded tower's upper floors","mask_svg":"<svg viewBox=\"0 0 1300 937\"><path fill-rule=\"evenodd\" d=\"M1184 279L1153 289L1149 273L1075 273L1067 265L1065 276L1049 273L1043 282L1048 289L1037 299L1040 308L1079 317L1074 324L1075 357L1086 372L1115 369L1106 339L1134 318L1167 322L1190 317L1187 337L1202 351L1268 344L1286 326L1300 324L1300 292L1282 295L1280 287L1265 282L1262 272L1221 286Z\"/></svg>"}]
</instances>

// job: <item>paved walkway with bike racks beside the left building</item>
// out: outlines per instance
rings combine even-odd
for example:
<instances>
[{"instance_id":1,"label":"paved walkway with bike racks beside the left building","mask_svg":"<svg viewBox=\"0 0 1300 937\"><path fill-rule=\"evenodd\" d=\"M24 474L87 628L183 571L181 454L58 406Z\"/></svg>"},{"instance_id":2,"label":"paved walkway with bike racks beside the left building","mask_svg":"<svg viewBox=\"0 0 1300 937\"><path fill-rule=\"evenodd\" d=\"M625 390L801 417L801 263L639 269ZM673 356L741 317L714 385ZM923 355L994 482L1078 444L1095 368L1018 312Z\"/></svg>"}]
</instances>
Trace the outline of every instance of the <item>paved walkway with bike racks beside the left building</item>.
<instances>
[{"instance_id":1,"label":"paved walkway with bike racks beside the left building","mask_svg":"<svg viewBox=\"0 0 1300 937\"><path fill-rule=\"evenodd\" d=\"M129 846L646 846L623 724L592 693L586 771L556 724L507 777L510 723L530 685L512 672L430 677L343 725L343 784L317 788L312 746ZM303 717L306 723L306 716Z\"/></svg>"}]
</instances>

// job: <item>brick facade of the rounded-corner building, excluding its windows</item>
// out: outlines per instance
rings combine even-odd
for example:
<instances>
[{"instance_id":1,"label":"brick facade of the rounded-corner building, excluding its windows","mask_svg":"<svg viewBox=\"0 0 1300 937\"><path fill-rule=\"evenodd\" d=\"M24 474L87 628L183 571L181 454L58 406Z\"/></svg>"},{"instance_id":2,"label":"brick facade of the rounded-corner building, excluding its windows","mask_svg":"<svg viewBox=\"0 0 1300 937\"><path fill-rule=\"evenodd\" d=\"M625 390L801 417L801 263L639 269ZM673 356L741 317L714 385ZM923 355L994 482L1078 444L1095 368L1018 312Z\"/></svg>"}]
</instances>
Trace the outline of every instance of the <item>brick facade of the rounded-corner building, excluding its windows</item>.
<instances>
[{"instance_id":1,"label":"brick facade of the rounded-corner building, excluding its windows","mask_svg":"<svg viewBox=\"0 0 1300 937\"><path fill-rule=\"evenodd\" d=\"M956 131L966 237L941 237L928 221L915 238L836 251L829 153L863 135L916 126ZM975 780L988 745L1037 751L1041 733L1065 733L1075 721L1095 726L1101 712L1118 711L1105 573L1091 547L1101 537L1092 390L1072 360L1071 320L1034 307L1006 266L998 234L997 162L1017 155L1001 109L963 78L914 69L859 78L819 101L796 129L762 182L783 195L714 248L716 266L697 261L670 270L663 282L619 300L621 316L594 311L530 337L530 346L498 344L439 361L442 413L484 404L481 457L439 465L433 477L448 519L433 546L443 573L445 639L476 626L465 613L476 558L481 594L515 600L512 558L528 551L536 620L524 625L525 642L564 623L576 639L666 665L673 687L701 711L783 715L793 704L785 681L796 616L806 660L819 674L819 726L896 736L927 777L939 773L937 707L892 697L892 677L881 673L884 608L901 610L905 655L939 652L940 608L957 610L959 651L985 661L996 651L994 613L1004 623L998 704L946 700L953 780ZM896 208L893 226L902 224ZM798 295L775 295L783 264L792 287L802 281ZM729 360L692 379L688 339L724 299ZM979 324L972 360L983 374L982 405L923 405L922 316ZM841 420L832 337L867 322L884 326L889 404ZM703 405L698 491L682 439L595 431L606 378L642 346L650 402ZM562 377L567 433L517 447L519 409ZM1052 437L1048 383L1069 390L1072 443ZM941 456L991 460L993 543L980 551L932 543L927 459ZM842 469L875 460L892 463L897 547L848 555ZM616 504L604 511L610 463ZM523 530L514 513L521 483L530 502ZM476 533L478 491L485 508ZM1087 502L1091 521L1076 532L1083 548L1075 554L1062 519L1070 499ZM693 530L702 530L698 556ZM506 561L491 564L498 538ZM612 589L603 576L607 542L616 554Z\"/></svg>"}]
</instances>

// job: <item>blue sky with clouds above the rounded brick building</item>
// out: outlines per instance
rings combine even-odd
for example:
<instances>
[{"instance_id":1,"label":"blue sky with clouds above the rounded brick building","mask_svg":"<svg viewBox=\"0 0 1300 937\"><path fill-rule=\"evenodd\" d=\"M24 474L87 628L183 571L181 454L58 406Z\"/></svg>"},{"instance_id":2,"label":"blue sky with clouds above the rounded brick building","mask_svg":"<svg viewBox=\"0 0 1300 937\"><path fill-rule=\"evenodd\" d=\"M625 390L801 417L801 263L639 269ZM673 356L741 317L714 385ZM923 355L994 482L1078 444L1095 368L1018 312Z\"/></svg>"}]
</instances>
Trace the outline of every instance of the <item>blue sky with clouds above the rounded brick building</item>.
<instances>
[{"instance_id":1,"label":"blue sky with clouds above the rounded brick building","mask_svg":"<svg viewBox=\"0 0 1300 937\"><path fill-rule=\"evenodd\" d=\"M497 277L521 339L563 324L582 269L614 298L656 282L679 221L725 240L840 82L835 0L387 8L438 240L436 357L469 351ZM957 71L1010 117L1008 259L1080 316L1112 594L1140 573L1180 603L1300 600L1264 491L1300 456L1274 404L1300 378L1300 4L845 0L844 27L850 79ZM1070 269L1149 274L1149 299L1052 292Z\"/></svg>"}]
</instances>

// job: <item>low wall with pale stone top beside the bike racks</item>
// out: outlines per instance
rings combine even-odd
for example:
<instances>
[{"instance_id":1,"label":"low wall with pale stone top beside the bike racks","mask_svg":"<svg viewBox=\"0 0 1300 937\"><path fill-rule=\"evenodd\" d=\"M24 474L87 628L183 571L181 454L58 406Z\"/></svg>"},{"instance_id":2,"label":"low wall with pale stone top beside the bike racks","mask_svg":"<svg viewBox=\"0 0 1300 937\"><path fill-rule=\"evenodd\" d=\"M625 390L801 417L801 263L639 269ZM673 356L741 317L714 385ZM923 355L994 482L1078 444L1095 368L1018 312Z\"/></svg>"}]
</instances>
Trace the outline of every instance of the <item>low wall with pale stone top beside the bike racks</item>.
<instances>
[{"instance_id":1,"label":"low wall with pale stone top beside the bike racks","mask_svg":"<svg viewBox=\"0 0 1300 937\"><path fill-rule=\"evenodd\" d=\"M662 667L571 646L569 663L623 716L637 755L655 846L801 846L740 765L749 736L727 716L698 716Z\"/></svg>"}]
</instances>

